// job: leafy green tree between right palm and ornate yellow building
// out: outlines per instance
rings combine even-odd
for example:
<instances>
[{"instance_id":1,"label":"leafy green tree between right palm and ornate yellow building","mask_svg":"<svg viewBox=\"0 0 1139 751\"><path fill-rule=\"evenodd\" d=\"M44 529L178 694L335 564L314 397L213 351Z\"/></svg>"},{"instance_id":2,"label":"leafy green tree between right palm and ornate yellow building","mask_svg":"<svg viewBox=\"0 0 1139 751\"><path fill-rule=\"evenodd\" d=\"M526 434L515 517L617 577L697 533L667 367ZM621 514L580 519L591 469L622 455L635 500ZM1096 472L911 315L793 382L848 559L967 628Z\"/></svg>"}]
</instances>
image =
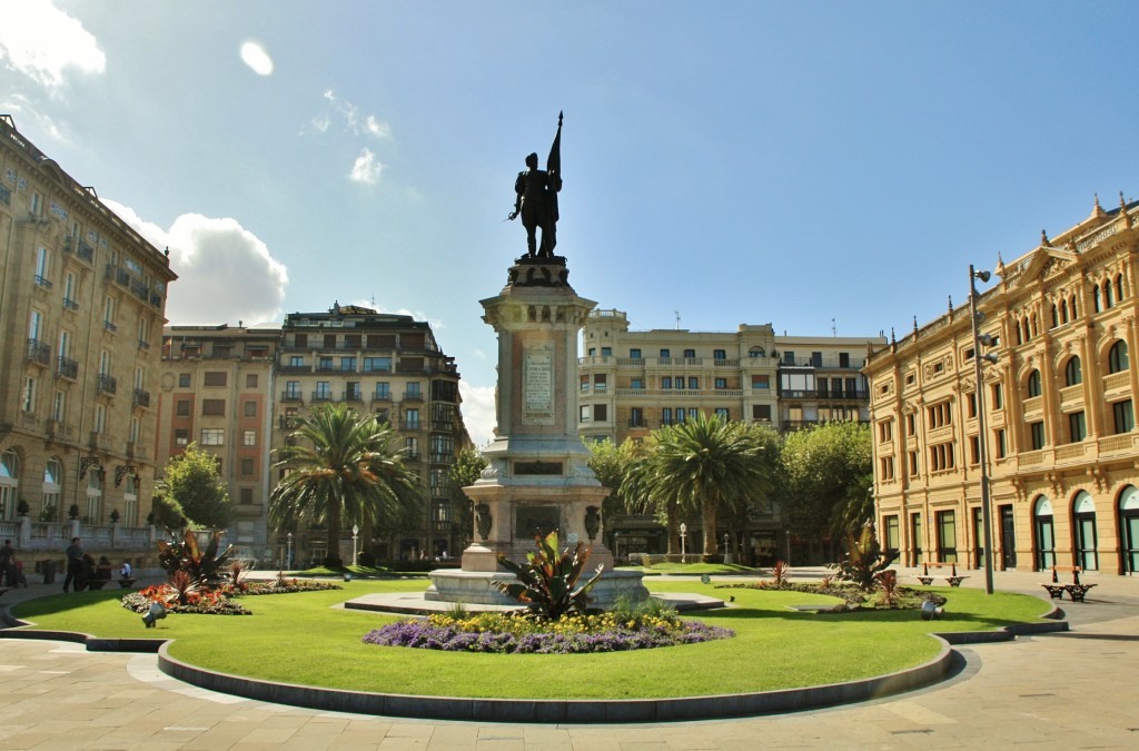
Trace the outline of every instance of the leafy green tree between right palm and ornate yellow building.
<instances>
[{"instance_id":1,"label":"leafy green tree between right palm and ornate yellow building","mask_svg":"<svg viewBox=\"0 0 1139 751\"><path fill-rule=\"evenodd\" d=\"M801 537L827 538L836 506L860 492L861 499L866 498L860 483L872 472L870 428L836 422L790 433L784 439L782 467L789 529Z\"/></svg>"}]
</instances>

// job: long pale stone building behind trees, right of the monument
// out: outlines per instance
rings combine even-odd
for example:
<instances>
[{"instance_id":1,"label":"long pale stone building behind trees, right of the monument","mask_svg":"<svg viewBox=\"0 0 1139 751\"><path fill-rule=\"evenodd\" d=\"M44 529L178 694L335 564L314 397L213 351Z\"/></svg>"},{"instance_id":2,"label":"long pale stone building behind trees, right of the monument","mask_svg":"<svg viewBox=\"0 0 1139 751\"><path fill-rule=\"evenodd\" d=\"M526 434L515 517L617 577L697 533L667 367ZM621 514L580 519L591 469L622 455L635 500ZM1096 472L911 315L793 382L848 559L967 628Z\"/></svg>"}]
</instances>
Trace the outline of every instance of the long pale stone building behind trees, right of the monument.
<instances>
[{"instance_id":1,"label":"long pale stone building behind trees, right of the monument","mask_svg":"<svg viewBox=\"0 0 1139 751\"><path fill-rule=\"evenodd\" d=\"M882 337L776 335L771 324L735 332L630 330L626 313L593 310L579 360L580 425L587 442L640 439L699 413L792 431L828 421L869 421L867 346ZM694 520L698 522L698 520ZM786 548L778 508L752 520L745 560L767 561ZM653 515L611 519L617 554L663 553L664 528ZM689 540L699 536L689 532ZM800 545L802 548L802 545ZM821 554L821 553L820 553Z\"/></svg>"}]
</instances>

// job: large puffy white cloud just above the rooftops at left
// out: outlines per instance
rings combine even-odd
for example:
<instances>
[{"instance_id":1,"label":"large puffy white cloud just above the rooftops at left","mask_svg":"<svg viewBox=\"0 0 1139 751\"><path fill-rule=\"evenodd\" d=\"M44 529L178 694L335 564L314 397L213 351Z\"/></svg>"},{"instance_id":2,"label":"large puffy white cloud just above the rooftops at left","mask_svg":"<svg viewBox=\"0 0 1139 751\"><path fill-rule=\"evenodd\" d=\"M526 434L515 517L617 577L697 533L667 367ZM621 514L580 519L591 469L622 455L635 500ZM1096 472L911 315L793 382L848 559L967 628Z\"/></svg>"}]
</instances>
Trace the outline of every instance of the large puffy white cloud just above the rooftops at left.
<instances>
[{"instance_id":1,"label":"large puffy white cloud just above the rooftops at left","mask_svg":"<svg viewBox=\"0 0 1139 751\"><path fill-rule=\"evenodd\" d=\"M252 325L281 319L288 270L236 219L182 214L165 230L129 206L103 203L156 247L170 248L170 266L179 277L166 302L171 323Z\"/></svg>"}]
</instances>

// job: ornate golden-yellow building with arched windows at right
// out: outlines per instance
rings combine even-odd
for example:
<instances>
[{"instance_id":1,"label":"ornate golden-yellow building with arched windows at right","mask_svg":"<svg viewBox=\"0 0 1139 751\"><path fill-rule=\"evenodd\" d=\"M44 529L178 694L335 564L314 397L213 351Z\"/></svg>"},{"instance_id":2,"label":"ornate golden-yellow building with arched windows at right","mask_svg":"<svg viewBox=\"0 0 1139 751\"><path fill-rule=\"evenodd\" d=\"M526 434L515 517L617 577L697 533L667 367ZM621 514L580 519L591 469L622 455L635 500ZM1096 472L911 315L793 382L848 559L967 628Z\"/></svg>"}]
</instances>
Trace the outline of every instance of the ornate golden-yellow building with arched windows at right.
<instances>
[{"instance_id":1,"label":"ornate golden-yellow building with arched windows at right","mask_svg":"<svg viewBox=\"0 0 1139 751\"><path fill-rule=\"evenodd\" d=\"M1009 264L978 296L981 408L998 569L1139 569L1133 401L1139 204L1105 211ZM999 260L999 259L998 259ZM962 277L967 276L962 269ZM977 387L968 305L874 352L879 536L901 562L980 568Z\"/></svg>"}]
</instances>

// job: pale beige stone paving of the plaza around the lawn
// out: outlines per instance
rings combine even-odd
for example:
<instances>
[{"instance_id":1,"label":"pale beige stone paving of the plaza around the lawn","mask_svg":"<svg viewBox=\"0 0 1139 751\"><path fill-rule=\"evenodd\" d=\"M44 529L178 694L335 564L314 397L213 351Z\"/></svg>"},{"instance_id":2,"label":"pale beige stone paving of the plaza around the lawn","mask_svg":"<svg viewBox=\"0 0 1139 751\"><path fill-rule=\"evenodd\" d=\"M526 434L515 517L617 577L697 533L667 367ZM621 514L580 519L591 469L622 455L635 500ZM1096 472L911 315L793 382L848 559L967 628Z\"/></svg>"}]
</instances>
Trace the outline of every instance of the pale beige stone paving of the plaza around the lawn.
<instances>
[{"instance_id":1,"label":"pale beige stone paving of the plaza around the lawn","mask_svg":"<svg viewBox=\"0 0 1139 751\"><path fill-rule=\"evenodd\" d=\"M912 573L903 570L903 581ZM966 586L981 586L969 573ZM1038 594L1042 580L998 572L995 583ZM158 672L153 654L0 639L0 749L1137 749L1139 578L1085 581L1099 585L1088 602L1063 605L1071 631L960 647L956 674L928 688L826 710L639 726L317 712L188 686ZM33 586L0 602L36 589L49 591Z\"/></svg>"}]
</instances>

